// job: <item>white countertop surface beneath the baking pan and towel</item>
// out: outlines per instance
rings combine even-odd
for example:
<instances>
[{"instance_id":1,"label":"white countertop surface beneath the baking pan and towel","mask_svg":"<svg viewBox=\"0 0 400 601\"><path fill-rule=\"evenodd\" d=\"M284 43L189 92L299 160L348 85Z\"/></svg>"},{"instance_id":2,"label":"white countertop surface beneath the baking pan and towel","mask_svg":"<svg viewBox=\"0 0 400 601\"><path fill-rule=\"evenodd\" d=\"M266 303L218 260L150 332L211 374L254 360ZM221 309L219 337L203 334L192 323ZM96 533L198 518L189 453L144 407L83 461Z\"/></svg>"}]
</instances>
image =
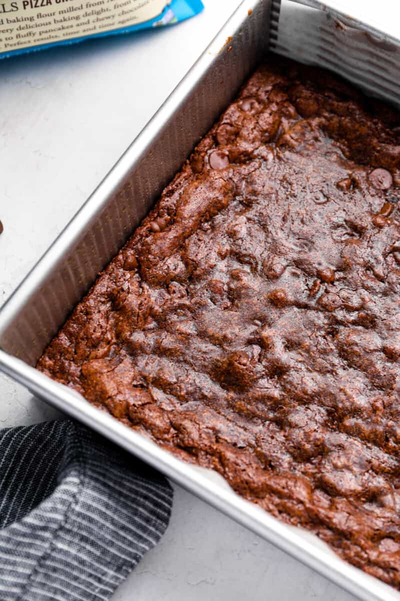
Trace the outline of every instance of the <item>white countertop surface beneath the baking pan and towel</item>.
<instances>
[{"instance_id":1,"label":"white countertop surface beneath the baking pan and towel","mask_svg":"<svg viewBox=\"0 0 400 601\"><path fill-rule=\"evenodd\" d=\"M0 61L0 304L239 4L203 1L173 28ZM57 415L1 375L0 399L0 427ZM113 599L354 597L175 487L166 535Z\"/></svg>"}]
</instances>

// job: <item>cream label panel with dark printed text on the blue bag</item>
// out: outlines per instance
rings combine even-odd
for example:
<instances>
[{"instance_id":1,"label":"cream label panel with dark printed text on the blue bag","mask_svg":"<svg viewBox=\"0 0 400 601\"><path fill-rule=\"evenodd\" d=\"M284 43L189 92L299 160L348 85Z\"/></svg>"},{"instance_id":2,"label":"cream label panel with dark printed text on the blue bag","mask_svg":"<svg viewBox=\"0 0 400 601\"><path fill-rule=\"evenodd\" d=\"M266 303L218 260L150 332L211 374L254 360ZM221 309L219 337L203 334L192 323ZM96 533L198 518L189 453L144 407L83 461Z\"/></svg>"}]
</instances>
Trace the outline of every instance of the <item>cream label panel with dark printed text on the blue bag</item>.
<instances>
[{"instance_id":1,"label":"cream label panel with dark printed text on the blue bag","mask_svg":"<svg viewBox=\"0 0 400 601\"><path fill-rule=\"evenodd\" d=\"M167 0L0 0L0 52L86 37L154 19Z\"/></svg>"}]
</instances>

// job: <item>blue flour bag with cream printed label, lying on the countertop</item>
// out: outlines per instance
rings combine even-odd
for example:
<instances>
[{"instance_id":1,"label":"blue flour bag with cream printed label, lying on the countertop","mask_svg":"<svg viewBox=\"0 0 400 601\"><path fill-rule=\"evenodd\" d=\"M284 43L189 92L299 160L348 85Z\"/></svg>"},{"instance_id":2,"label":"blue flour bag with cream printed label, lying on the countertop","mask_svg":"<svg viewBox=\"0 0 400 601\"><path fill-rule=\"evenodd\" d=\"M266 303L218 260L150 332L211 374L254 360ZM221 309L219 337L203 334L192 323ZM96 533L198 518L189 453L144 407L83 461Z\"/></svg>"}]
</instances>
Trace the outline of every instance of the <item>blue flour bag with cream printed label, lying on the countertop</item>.
<instances>
[{"instance_id":1,"label":"blue flour bag with cream printed label, lying on the countertop","mask_svg":"<svg viewBox=\"0 0 400 601\"><path fill-rule=\"evenodd\" d=\"M172 25L202 8L201 0L0 0L0 58Z\"/></svg>"}]
</instances>

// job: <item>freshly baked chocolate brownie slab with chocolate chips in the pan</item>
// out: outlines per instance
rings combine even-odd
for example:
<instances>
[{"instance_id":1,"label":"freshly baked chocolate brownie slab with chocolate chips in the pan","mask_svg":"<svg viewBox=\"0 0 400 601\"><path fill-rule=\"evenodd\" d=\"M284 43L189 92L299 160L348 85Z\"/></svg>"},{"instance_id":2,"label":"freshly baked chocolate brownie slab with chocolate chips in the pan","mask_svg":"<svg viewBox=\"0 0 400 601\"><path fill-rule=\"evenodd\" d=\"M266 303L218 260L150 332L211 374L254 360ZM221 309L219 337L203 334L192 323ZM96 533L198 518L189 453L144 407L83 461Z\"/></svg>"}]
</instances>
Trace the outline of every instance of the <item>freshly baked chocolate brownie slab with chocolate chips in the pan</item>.
<instances>
[{"instance_id":1,"label":"freshly baked chocolate brownie slab with chocolate chips in the pan","mask_svg":"<svg viewBox=\"0 0 400 601\"><path fill-rule=\"evenodd\" d=\"M400 590L399 125L270 58L38 368Z\"/></svg>"}]
</instances>

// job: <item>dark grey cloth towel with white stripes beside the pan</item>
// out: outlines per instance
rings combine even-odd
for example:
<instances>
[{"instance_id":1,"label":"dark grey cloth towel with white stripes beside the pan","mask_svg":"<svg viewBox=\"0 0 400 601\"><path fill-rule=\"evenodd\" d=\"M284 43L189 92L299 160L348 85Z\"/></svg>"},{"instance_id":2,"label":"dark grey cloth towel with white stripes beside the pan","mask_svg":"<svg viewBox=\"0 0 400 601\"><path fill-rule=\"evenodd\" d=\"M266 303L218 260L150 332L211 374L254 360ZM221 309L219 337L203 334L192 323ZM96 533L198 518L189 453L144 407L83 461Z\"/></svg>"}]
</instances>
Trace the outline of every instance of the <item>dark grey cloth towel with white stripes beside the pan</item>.
<instances>
[{"instance_id":1,"label":"dark grey cloth towel with white stripes beside the pan","mask_svg":"<svg viewBox=\"0 0 400 601\"><path fill-rule=\"evenodd\" d=\"M1 601L110 599L171 505L165 478L79 424L0 430Z\"/></svg>"}]
</instances>

